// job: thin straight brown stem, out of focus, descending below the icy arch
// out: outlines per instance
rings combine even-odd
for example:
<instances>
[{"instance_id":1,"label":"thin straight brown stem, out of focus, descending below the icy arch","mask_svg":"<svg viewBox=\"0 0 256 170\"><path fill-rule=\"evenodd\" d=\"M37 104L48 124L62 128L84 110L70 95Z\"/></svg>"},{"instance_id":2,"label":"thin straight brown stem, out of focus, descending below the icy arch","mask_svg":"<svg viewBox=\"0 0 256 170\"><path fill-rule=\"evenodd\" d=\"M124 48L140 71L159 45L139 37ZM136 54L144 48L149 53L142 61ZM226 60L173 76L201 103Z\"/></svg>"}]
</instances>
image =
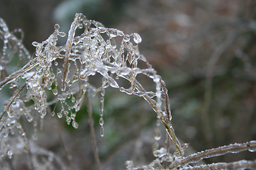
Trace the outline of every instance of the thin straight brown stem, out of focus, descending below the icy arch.
<instances>
[{"instance_id":1,"label":"thin straight brown stem, out of focus, descending below the icy arch","mask_svg":"<svg viewBox=\"0 0 256 170\"><path fill-rule=\"evenodd\" d=\"M90 97L88 92L86 92L86 101L87 101L87 112L89 115L89 124L90 124L90 134L92 136L92 145L93 145L93 152L95 156L95 161L97 164L97 169L100 170L100 157L97 152L97 143L96 143L96 137L95 137L95 130L93 128L93 119L92 119L92 107L90 105Z\"/></svg>"}]
</instances>

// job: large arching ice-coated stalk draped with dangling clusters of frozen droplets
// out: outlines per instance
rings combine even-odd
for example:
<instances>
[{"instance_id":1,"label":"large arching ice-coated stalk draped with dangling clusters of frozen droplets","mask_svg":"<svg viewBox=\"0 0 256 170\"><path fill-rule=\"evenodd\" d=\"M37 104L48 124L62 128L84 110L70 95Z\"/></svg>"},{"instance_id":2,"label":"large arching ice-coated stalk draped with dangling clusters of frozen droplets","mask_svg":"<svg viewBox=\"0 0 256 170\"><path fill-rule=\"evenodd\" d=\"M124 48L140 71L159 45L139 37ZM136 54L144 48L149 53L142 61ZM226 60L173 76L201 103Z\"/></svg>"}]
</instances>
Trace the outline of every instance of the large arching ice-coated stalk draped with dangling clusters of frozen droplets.
<instances>
[{"instance_id":1,"label":"large arching ice-coated stalk draped with dangling clusters of frozen droplets","mask_svg":"<svg viewBox=\"0 0 256 170\"><path fill-rule=\"evenodd\" d=\"M4 37L3 56L5 56L9 38L12 35L4 22L0 21L0 23L2 27L0 35ZM76 35L76 30L81 28L84 29L84 33ZM174 140L178 151L182 154L181 145L174 134L174 129L171 127L169 97L164 81L151 68L144 56L139 53L138 44L142 42L140 35L138 33L125 35L121 30L105 28L97 21L87 20L81 13L75 15L68 32L68 39L63 46L58 46L57 43L58 36L65 36L65 33L60 32L59 29L60 26L55 24L53 34L47 40L41 43L33 42L33 46L36 47L35 57L31 59L28 56L27 64L0 82L0 88L6 86L6 84L11 84L13 88L17 89L16 94L6 103L6 108L1 113L0 120L5 113L8 113L7 115L10 118L19 118L16 115L21 112L14 106L19 100L24 110L28 113L36 111L40 113L41 118L46 116L46 108L53 105L52 115L57 115L58 118L65 116L68 124L78 128L75 117L80 111L85 94L90 93L90 91L93 95L100 92L100 134L103 137L105 89L112 87L126 94L142 97L149 102L156 112L157 125L159 126L159 123L164 125L166 132ZM114 40L118 37L122 38L120 45L117 45ZM12 38L11 40L15 41L16 39ZM26 50L23 51L26 54ZM63 65L58 64L61 60L64 63ZM147 68L139 68L139 61L144 62ZM3 64L1 68L4 69ZM95 76L96 73L102 76L101 86L92 85L88 79L88 77ZM156 84L156 90L146 91L137 79L139 74L144 74L152 79ZM23 79L26 83L21 85L20 79ZM129 81L129 89L124 89L119 84L120 79ZM23 89L26 89L26 100L22 100L20 95ZM53 96L55 96L53 101L48 101L46 91L52 91ZM71 98L71 103L68 102L69 98ZM33 106L26 107L24 102L28 100L34 102ZM163 102L165 103L164 111L162 109ZM28 113L26 113L26 116ZM33 117L31 118L33 119ZM159 136L158 133L156 138Z\"/></svg>"}]
</instances>

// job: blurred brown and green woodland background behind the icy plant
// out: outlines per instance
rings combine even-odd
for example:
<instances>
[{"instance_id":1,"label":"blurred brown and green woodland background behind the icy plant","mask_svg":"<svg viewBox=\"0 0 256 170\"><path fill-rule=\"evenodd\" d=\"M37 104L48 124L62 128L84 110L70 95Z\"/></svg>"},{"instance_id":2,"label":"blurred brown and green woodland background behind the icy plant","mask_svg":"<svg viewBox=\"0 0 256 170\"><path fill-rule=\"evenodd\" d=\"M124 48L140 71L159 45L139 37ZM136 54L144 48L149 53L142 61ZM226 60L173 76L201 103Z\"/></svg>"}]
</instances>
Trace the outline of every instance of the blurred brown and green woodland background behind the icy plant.
<instances>
[{"instance_id":1,"label":"blurred brown and green woodland background behind the icy plant","mask_svg":"<svg viewBox=\"0 0 256 170\"><path fill-rule=\"evenodd\" d=\"M166 81L176 135L190 143L187 154L256 140L256 1L0 1L0 17L10 30L23 30L23 43L31 54L35 50L31 42L46 40L55 23L67 33L75 13L142 36L139 50ZM103 138L97 123L99 100L92 99L103 169L124 169L128 159L149 164L154 160L155 113L142 98L112 89L106 93ZM36 142L64 162L68 152L75 169L94 169L86 106L78 116L78 130L65 125L64 119L48 116L50 121L38 130ZM166 136L161 131L164 146ZM256 155L227 154L206 162L240 159L252 160Z\"/></svg>"}]
</instances>

